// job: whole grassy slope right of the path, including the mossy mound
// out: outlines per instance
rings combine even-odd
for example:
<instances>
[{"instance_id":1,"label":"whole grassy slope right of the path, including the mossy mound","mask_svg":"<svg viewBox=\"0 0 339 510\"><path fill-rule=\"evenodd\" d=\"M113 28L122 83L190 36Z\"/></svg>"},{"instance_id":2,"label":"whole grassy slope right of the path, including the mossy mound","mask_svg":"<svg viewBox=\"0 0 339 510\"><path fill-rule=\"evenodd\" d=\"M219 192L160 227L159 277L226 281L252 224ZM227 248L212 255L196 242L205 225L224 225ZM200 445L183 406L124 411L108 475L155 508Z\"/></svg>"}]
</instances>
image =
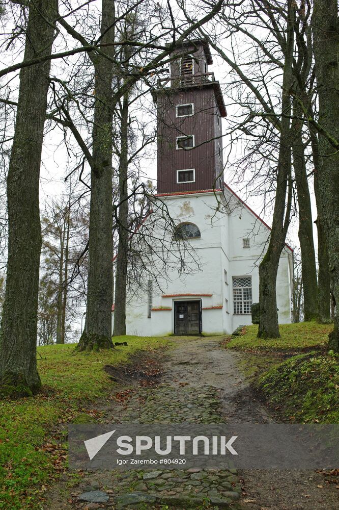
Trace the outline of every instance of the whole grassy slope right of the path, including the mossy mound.
<instances>
[{"instance_id":1,"label":"whole grassy slope right of the path, including the mossy mound","mask_svg":"<svg viewBox=\"0 0 339 510\"><path fill-rule=\"evenodd\" d=\"M253 325L225 346L250 353L242 368L254 374L255 386L286 418L339 423L339 358L325 350L332 327L315 322L283 324L281 338L262 340L256 338L258 326ZM298 352L281 363L284 354Z\"/></svg>"}]
</instances>

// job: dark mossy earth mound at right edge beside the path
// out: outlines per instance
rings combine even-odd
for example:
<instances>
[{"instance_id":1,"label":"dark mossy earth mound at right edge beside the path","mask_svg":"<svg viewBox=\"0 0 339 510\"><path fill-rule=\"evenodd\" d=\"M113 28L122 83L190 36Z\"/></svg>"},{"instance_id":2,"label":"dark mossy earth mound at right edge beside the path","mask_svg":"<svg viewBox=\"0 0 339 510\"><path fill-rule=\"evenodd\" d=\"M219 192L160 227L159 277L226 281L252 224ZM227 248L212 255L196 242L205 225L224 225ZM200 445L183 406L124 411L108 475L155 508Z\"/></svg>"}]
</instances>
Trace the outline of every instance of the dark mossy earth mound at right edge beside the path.
<instances>
[{"instance_id":1,"label":"dark mossy earth mound at right edge beside the path","mask_svg":"<svg viewBox=\"0 0 339 510\"><path fill-rule=\"evenodd\" d=\"M296 423L339 423L339 357L299 354L262 375L257 388Z\"/></svg>"}]
</instances>

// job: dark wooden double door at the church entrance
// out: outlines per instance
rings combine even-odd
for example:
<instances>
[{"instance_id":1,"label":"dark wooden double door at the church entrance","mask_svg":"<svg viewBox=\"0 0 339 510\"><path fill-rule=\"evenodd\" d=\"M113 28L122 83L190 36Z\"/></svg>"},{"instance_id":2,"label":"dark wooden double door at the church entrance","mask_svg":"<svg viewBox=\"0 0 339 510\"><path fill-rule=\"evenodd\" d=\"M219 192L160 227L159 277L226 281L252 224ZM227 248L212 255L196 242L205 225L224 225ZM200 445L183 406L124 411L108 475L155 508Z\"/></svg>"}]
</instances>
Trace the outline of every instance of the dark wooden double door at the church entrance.
<instances>
[{"instance_id":1,"label":"dark wooden double door at the church entrance","mask_svg":"<svg viewBox=\"0 0 339 510\"><path fill-rule=\"evenodd\" d=\"M175 335L200 335L202 332L201 301L175 301Z\"/></svg>"}]
</instances>

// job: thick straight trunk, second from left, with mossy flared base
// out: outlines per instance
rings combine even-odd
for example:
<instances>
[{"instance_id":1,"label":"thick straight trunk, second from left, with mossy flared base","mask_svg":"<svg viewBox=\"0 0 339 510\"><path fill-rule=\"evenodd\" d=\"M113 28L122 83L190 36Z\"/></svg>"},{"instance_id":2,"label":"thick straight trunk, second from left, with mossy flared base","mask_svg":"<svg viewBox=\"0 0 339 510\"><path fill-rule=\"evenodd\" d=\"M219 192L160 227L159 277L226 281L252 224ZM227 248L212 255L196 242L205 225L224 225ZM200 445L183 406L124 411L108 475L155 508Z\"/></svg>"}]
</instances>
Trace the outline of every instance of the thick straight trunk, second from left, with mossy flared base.
<instances>
[{"instance_id":1,"label":"thick straight trunk, second from left, with mossy flared base","mask_svg":"<svg viewBox=\"0 0 339 510\"><path fill-rule=\"evenodd\" d=\"M101 44L107 55L114 55L114 1L102 0ZM111 236L112 236L112 74L111 62L94 58L95 107L89 238L89 275L86 330L78 350L113 347L111 340Z\"/></svg>"}]
</instances>

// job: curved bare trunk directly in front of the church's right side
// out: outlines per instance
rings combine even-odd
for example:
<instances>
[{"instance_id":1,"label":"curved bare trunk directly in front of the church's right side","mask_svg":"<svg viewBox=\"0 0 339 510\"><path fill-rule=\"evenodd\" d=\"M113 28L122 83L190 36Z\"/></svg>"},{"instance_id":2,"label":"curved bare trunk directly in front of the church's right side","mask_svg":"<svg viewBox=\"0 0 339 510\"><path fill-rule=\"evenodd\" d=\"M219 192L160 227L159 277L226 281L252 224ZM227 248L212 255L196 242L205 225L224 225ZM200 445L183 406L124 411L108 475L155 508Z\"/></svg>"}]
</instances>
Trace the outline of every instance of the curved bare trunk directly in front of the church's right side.
<instances>
[{"instance_id":1,"label":"curved bare trunk directly in front of the church's right side","mask_svg":"<svg viewBox=\"0 0 339 510\"><path fill-rule=\"evenodd\" d=\"M283 76L283 98L281 101L281 131L277 164L277 182L274 202L272 230L265 257L259 266L259 338L279 338L279 324L276 306L276 275L281 251L284 249L290 224L292 179L291 179L291 85L294 41L294 2L288 2L288 27ZM286 206L286 192L288 201Z\"/></svg>"}]
</instances>

